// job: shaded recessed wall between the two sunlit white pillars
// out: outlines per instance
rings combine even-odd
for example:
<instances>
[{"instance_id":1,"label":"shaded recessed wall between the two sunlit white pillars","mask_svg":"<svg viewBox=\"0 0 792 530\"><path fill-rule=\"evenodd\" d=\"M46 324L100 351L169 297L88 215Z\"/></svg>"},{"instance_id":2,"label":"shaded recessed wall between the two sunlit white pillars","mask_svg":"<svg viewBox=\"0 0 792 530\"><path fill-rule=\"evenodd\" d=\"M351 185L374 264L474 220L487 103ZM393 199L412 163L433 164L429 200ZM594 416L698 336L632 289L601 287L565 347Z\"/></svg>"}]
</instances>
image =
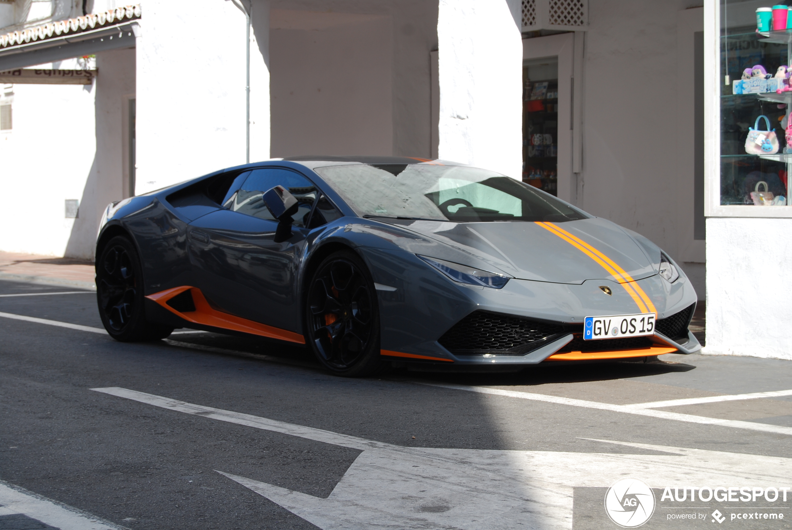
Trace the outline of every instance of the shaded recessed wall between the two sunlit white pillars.
<instances>
[{"instance_id":1,"label":"shaded recessed wall between the two sunlit white pillars","mask_svg":"<svg viewBox=\"0 0 792 530\"><path fill-rule=\"evenodd\" d=\"M431 156L436 2L273 0L271 21L273 156Z\"/></svg>"}]
</instances>

